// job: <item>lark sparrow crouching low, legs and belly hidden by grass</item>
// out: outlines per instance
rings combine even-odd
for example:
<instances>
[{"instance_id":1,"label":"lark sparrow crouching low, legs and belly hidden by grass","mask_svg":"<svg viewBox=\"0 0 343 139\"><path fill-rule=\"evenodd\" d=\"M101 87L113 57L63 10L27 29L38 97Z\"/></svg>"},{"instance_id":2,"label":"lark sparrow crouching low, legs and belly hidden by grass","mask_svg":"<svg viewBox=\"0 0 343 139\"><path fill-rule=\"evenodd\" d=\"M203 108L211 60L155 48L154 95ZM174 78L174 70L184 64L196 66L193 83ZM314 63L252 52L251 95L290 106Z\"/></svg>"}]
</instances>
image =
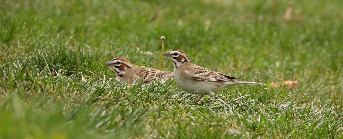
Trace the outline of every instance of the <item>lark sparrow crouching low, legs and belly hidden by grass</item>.
<instances>
[{"instance_id":1,"label":"lark sparrow crouching low, legs and belly hidden by grass","mask_svg":"<svg viewBox=\"0 0 343 139\"><path fill-rule=\"evenodd\" d=\"M151 81L158 79L161 79L162 83L164 83L174 76L173 72L170 73L170 71L160 71L144 66L134 66L123 58L114 58L107 62L105 66L115 71L116 78L119 79L120 82L129 80L129 83L131 84L133 81L136 81L137 83L140 82L142 78L145 84L149 84Z\"/></svg>"}]
</instances>

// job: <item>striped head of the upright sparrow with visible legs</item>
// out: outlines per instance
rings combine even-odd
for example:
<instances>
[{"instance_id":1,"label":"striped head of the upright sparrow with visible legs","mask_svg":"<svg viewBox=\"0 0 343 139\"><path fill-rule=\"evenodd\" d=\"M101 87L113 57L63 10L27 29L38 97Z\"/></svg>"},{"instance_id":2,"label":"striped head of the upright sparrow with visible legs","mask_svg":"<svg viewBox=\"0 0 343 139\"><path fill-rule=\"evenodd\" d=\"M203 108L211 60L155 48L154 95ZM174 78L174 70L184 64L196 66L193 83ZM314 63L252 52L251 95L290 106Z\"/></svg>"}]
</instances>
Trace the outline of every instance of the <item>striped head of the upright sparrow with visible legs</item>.
<instances>
[{"instance_id":1,"label":"striped head of the upright sparrow with visible legs","mask_svg":"<svg viewBox=\"0 0 343 139\"><path fill-rule=\"evenodd\" d=\"M173 60L174 62L174 66L180 67L181 65L187 63L187 62L191 62L191 60L189 59L189 57L187 56L187 54L184 51L181 50L171 50L167 53L163 54L166 57L169 57L171 60Z\"/></svg>"}]
</instances>

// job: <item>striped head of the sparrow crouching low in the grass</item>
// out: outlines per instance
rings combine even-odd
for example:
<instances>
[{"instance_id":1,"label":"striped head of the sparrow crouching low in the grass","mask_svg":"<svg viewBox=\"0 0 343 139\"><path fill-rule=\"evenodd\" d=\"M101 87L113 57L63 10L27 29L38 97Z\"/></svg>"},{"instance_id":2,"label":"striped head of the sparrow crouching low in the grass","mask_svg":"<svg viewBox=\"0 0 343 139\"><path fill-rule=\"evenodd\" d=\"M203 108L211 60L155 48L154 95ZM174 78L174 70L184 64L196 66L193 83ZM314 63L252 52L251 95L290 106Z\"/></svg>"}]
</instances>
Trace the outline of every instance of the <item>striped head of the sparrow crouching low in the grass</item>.
<instances>
[{"instance_id":1,"label":"striped head of the sparrow crouching low in the grass","mask_svg":"<svg viewBox=\"0 0 343 139\"><path fill-rule=\"evenodd\" d=\"M128 60L123 58L114 58L104 65L117 72L120 77L125 74L127 69L134 67Z\"/></svg>"}]
</instances>

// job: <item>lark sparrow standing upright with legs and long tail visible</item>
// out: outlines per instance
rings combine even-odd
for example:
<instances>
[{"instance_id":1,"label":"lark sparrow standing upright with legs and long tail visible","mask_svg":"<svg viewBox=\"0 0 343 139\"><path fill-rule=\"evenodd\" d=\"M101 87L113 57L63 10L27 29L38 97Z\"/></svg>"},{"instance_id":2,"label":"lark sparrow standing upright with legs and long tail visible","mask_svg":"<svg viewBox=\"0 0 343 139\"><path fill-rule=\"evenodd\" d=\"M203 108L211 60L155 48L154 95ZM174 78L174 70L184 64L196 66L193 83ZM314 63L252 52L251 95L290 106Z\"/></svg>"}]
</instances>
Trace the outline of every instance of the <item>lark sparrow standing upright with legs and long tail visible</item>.
<instances>
[{"instance_id":1,"label":"lark sparrow standing upright with legs and long tail visible","mask_svg":"<svg viewBox=\"0 0 343 139\"><path fill-rule=\"evenodd\" d=\"M236 84L266 85L263 83L236 81L233 79L241 78L230 77L195 65L191 62L187 54L181 50L172 50L163 55L169 57L174 62L174 78L176 84L188 93L200 94L200 97L194 101L200 99L207 92L212 96L213 102L215 92Z\"/></svg>"}]
</instances>

